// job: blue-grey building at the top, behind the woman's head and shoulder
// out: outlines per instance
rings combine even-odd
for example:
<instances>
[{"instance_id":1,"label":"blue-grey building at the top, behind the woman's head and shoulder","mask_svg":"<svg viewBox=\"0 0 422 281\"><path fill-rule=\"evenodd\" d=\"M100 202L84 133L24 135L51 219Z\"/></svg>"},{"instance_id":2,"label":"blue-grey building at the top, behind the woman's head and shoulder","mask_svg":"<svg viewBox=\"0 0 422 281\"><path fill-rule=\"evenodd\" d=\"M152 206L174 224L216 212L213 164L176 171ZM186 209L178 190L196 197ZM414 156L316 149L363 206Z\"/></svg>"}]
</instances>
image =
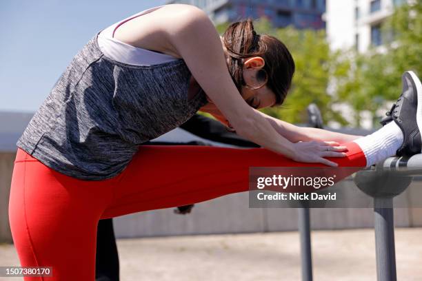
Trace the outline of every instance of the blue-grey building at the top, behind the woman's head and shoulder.
<instances>
[{"instance_id":1,"label":"blue-grey building at the top, behind the woman's head and shoulder","mask_svg":"<svg viewBox=\"0 0 422 281\"><path fill-rule=\"evenodd\" d=\"M325 0L172 0L167 3L186 3L207 12L215 24L233 22L246 17L268 18L277 28L323 29Z\"/></svg>"}]
</instances>

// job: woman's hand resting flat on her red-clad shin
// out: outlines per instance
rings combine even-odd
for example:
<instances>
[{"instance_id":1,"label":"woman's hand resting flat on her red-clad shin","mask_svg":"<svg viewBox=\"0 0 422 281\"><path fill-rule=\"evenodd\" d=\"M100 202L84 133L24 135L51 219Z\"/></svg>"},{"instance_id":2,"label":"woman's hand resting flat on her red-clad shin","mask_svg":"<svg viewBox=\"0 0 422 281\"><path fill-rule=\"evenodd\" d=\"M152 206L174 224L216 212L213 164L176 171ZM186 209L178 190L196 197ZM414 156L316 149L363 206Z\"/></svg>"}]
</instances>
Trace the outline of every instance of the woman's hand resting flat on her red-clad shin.
<instances>
[{"instance_id":1,"label":"woman's hand resting flat on her red-clad shin","mask_svg":"<svg viewBox=\"0 0 422 281\"><path fill-rule=\"evenodd\" d=\"M292 160L306 163L323 163L332 167L338 164L323 157L345 157L347 147L340 146L335 141L299 141L293 143Z\"/></svg>"}]
</instances>

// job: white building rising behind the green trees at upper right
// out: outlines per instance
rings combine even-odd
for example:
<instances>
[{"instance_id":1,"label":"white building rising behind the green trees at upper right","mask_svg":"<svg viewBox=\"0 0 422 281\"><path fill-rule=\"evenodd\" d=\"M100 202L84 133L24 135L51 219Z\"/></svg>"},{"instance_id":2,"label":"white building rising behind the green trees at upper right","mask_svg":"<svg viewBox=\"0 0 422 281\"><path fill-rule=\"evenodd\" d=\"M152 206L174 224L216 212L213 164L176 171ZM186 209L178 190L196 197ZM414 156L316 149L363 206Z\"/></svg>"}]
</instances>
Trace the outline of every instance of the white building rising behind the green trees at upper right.
<instances>
[{"instance_id":1,"label":"white building rising behind the green trees at upper right","mask_svg":"<svg viewBox=\"0 0 422 281\"><path fill-rule=\"evenodd\" d=\"M356 48L366 52L381 47L385 38L381 28L395 6L405 0L328 0L326 30L333 49Z\"/></svg>"}]
</instances>

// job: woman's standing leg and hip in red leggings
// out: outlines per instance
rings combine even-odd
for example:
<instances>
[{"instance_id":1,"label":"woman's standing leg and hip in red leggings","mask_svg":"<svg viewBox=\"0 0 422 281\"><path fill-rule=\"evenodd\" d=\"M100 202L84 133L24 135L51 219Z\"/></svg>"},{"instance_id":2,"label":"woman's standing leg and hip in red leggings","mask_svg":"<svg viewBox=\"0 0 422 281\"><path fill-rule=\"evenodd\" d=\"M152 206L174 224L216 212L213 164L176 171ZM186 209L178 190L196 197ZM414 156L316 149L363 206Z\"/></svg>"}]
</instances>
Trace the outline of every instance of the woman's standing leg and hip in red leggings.
<instances>
[{"instance_id":1,"label":"woman's standing leg and hip in red leggings","mask_svg":"<svg viewBox=\"0 0 422 281\"><path fill-rule=\"evenodd\" d=\"M22 267L52 267L52 277L94 280L97 223L112 201L110 180L60 174L18 149L9 198L14 247Z\"/></svg>"}]
</instances>

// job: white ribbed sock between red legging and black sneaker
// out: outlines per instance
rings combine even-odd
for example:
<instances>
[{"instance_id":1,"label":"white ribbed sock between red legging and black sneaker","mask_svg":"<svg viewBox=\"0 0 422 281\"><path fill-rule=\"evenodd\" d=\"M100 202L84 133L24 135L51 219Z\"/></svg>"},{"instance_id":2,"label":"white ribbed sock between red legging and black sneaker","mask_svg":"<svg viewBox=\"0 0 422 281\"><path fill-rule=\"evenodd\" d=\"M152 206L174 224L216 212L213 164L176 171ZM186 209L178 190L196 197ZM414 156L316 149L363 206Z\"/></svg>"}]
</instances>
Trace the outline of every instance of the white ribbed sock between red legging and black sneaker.
<instances>
[{"instance_id":1,"label":"white ribbed sock between red legging and black sneaker","mask_svg":"<svg viewBox=\"0 0 422 281\"><path fill-rule=\"evenodd\" d=\"M396 155L397 149L403 143L403 132L394 121L391 121L368 136L356 138L354 142L361 147L365 154L366 167L370 167Z\"/></svg>"}]
</instances>

